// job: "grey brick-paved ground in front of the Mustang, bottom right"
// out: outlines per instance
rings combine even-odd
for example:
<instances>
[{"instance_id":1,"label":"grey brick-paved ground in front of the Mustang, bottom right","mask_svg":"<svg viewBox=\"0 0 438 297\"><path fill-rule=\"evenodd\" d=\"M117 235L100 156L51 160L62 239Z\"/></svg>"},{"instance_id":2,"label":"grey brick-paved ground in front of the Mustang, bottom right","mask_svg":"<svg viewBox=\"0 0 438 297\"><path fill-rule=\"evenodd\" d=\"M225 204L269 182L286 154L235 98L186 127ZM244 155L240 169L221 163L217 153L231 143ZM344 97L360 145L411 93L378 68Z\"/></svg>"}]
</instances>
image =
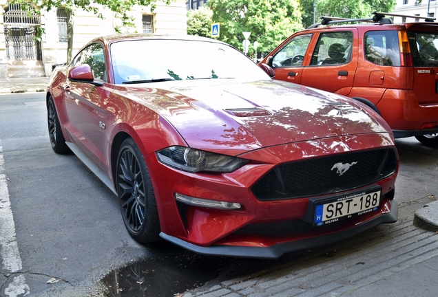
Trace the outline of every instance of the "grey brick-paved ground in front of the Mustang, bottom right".
<instances>
[{"instance_id":1,"label":"grey brick-paved ground in front of the Mustang, bottom right","mask_svg":"<svg viewBox=\"0 0 438 297\"><path fill-rule=\"evenodd\" d=\"M422 215L424 210L429 215ZM437 211L438 201L433 201L417 210L421 216L415 212L415 219L430 219L435 213L432 232L417 228L412 219L380 225L346 241L297 253L295 259L284 256L288 260L273 268L211 281L178 296L436 296Z\"/></svg>"}]
</instances>

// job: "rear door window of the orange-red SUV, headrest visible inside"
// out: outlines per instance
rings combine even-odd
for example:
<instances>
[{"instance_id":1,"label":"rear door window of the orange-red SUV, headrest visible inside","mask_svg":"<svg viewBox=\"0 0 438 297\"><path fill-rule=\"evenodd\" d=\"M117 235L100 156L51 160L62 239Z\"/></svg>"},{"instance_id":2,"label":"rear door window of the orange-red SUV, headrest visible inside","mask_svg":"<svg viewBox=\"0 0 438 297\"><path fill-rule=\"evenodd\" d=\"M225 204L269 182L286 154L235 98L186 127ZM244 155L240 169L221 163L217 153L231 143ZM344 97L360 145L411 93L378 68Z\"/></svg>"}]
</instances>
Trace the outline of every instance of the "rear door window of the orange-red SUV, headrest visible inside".
<instances>
[{"instance_id":1,"label":"rear door window of the orange-red SUV, headrest visible inside","mask_svg":"<svg viewBox=\"0 0 438 297\"><path fill-rule=\"evenodd\" d=\"M322 33L312 54L311 65L340 65L351 61L353 32Z\"/></svg>"}]
</instances>

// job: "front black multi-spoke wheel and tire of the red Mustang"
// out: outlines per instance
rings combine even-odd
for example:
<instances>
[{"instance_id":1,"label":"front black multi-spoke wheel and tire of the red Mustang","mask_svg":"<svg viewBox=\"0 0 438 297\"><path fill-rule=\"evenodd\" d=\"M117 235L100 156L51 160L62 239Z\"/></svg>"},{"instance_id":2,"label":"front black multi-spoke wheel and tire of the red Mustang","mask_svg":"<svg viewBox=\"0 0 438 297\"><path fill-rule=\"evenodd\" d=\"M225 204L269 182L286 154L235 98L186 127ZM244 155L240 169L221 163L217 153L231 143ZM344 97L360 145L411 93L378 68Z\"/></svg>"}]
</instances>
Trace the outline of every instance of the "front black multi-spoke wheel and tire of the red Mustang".
<instances>
[{"instance_id":1,"label":"front black multi-spoke wheel and tire of the red Mustang","mask_svg":"<svg viewBox=\"0 0 438 297\"><path fill-rule=\"evenodd\" d=\"M118 151L116 190L123 222L139 243L160 239L160 223L154 189L140 149L127 138Z\"/></svg>"}]
</instances>

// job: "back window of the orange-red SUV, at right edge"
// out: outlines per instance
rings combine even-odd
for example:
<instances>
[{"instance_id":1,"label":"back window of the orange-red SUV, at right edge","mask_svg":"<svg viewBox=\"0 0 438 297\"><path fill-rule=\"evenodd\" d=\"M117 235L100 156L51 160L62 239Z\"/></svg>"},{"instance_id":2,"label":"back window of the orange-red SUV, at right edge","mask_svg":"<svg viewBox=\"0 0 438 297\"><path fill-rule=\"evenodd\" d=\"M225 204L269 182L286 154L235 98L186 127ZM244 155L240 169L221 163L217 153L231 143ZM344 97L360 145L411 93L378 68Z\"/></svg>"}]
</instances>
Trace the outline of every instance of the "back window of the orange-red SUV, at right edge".
<instances>
[{"instance_id":1,"label":"back window of the orange-red SUV, at right edge","mask_svg":"<svg viewBox=\"0 0 438 297\"><path fill-rule=\"evenodd\" d=\"M408 31L415 67L438 66L438 33Z\"/></svg>"}]
</instances>

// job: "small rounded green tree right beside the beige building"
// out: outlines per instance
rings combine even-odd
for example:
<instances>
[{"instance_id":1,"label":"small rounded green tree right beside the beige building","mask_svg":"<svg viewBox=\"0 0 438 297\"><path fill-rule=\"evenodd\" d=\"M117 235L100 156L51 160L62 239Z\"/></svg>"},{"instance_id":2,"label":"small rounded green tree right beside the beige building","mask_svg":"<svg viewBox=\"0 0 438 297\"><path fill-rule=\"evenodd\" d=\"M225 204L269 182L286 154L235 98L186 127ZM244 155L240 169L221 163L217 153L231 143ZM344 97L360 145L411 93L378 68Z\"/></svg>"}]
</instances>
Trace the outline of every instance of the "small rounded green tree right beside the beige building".
<instances>
[{"instance_id":1,"label":"small rounded green tree right beside the beige building","mask_svg":"<svg viewBox=\"0 0 438 297\"><path fill-rule=\"evenodd\" d=\"M213 12L208 6L187 12L187 34L196 36L211 36L211 17Z\"/></svg>"}]
</instances>

